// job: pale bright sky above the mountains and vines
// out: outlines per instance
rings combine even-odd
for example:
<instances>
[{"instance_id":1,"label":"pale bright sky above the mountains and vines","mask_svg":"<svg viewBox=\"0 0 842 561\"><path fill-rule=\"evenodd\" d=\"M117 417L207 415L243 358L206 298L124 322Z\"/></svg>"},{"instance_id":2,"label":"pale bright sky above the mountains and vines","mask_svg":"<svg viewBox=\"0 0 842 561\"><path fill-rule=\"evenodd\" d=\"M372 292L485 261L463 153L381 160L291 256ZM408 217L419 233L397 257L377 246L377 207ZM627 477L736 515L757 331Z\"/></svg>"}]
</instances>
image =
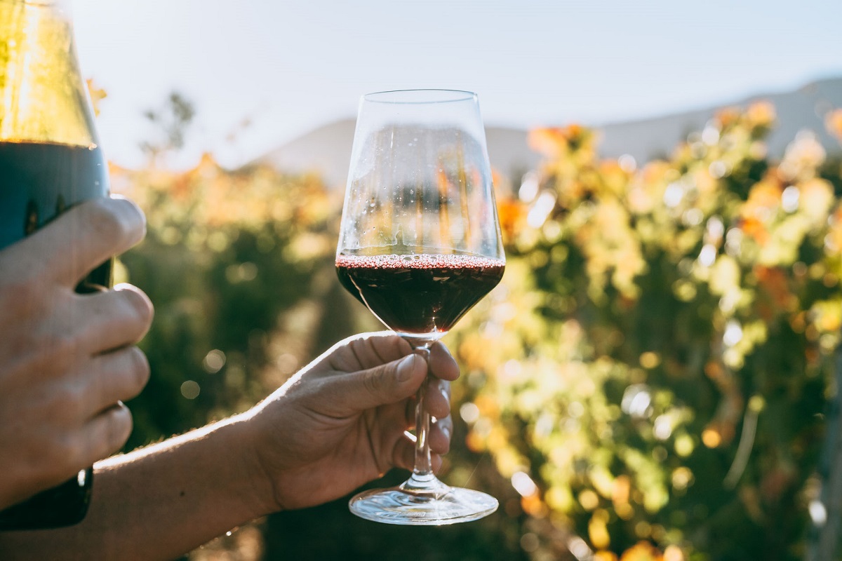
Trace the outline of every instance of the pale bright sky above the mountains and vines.
<instances>
[{"instance_id":1,"label":"pale bright sky above the mountains and vines","mask_svg":"<svg viewBox=\"0 0 842 561\"><path fill-rule=\"evenodd\" d=\"M195 104L174 167L235 167L362 94L477 93L487 124L604 124L842 76L838 0L72 0L111 160L143 164L143 117Z\"/></svg>"}]
</instances>

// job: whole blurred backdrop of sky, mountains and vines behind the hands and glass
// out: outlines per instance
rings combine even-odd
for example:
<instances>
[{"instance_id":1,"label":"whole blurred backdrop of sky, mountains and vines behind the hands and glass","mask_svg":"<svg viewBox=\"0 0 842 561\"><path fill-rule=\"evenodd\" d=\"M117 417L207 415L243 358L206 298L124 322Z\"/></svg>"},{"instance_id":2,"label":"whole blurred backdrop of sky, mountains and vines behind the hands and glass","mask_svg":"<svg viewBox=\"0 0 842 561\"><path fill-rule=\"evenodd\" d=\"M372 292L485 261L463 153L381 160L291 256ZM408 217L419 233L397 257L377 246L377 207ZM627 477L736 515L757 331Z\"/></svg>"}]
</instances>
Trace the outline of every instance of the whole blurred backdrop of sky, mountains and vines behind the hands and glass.
<instances>
[{"instance_id":1,"label":"whole blurred backdrop of sky, mountains and vines behind the hands and glass","mask_svg":"<svg viewBox=\"0 0 842 561\"><path fill-rule=\"evenodd\" d=\"M445 339L443 479L500 510L338 500L189 559L839 558L842 5L73 6L112 190L149 221L118 271L157 310L130 449L380 329L333 270L361 94L468 89L488 125L509 262Z\"/></svg>"}]
</instances>

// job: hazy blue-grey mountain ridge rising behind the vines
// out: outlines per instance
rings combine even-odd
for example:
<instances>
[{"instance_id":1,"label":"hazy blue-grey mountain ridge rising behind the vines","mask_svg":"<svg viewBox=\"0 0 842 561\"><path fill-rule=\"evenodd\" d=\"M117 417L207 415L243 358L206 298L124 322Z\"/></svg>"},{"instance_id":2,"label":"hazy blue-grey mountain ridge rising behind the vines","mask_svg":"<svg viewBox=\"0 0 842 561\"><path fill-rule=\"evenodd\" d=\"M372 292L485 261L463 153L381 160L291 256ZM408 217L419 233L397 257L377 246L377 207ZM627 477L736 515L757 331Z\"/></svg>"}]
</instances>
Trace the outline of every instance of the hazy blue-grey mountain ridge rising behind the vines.
<instances>
[{"instance_id":1,"label":"hazy blue-grey mountain ridge rising behind the vines","mask_svg":"<svg viewBox=\"0 0 842 561\"><path fill-rule=\"evenodd\" d=\"M688 133L703 129L717 110L744 108L761 99L773 103L778 116L768 139L771 155L783 154L799 130L812 130L828 151L839 151L839 143L825 130L823 119L829 109L842 108L842 77L811 82L793 92L758 94L685 113L589 126L600 131L603 156L629 154L637 161L647 161L668 154ZM521 129L486 128L488 157L492 166L506 177L520 177L541 161L541 156L527 145L527 134L527 130ZM290 140L258 161L287 172L319 172L329 186L344 188L353 140L354 119L339 120Z\"/></svg>"}]
</instances>

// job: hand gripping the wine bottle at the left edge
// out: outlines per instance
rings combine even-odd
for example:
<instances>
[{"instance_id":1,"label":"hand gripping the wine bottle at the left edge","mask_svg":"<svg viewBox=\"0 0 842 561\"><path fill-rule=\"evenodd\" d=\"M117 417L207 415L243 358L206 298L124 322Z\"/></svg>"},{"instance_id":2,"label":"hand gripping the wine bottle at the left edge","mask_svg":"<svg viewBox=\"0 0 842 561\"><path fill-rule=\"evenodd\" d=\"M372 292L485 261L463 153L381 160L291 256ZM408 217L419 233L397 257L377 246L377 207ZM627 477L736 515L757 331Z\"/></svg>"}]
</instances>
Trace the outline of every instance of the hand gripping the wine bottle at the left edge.
<instances>
[{"instance_id":1,"label":"hand gripping the wine bottle at the left edge","mask_svg":"<svg viewBox=\"0 0 842 561\"><path fill-rule=\"evenodd\" d=\"M120 400L149 365L134 346L152 321L139 289L77 294L94 267L144 236L125 198L80 204L0 251L0 509L67 480L131 432Z\"/></svg>"}]
</instances>

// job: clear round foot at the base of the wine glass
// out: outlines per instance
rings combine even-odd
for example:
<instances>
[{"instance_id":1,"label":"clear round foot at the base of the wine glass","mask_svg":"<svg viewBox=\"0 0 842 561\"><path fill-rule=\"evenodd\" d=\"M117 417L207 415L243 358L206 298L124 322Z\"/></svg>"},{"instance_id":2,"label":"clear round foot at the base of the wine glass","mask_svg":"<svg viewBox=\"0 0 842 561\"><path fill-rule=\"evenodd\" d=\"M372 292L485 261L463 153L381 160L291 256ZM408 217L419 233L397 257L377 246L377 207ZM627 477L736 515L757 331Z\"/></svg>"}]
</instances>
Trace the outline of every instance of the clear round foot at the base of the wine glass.
<instances>
[{"instance_id":1,"label":"clear round foot at the base of the wine glass","mask_svg":"<svg viewBox=\"0 0 842 561\"><path fill-rule=\"evenodd\" d=\"M407 490L407 484L403 484L363 491L349 501L349 509L366 520L406 526L468 522L497 510L497 499L491 495L436 483L434 490Z\"/></svg>"}]
</instances>

